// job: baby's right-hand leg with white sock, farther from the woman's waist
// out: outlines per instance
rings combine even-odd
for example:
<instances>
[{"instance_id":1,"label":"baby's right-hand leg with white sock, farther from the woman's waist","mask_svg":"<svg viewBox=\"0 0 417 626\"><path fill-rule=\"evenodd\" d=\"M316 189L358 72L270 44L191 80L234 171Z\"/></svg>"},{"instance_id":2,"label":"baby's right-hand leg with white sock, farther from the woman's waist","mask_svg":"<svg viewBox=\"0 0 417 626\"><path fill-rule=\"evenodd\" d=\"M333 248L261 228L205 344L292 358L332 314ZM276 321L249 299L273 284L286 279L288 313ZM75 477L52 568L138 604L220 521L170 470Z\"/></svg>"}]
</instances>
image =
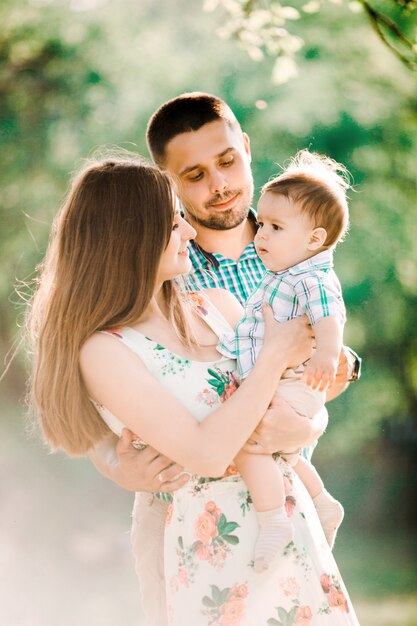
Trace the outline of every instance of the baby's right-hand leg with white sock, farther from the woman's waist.
<instances>
[{"instance_id":1,"label":"baby's right-hand leg with white sock, farther from the woman's waist","mask_svg":"<svg viewBox=\"0 0 417 626\"><path fill-rule=\"evenodd\" d=\"M336 533L343 521L343 507L326 491L316 468L307 459L300 456L294 470L312 497L327 543L333 548Z\"/></svg>"}]
</instances>

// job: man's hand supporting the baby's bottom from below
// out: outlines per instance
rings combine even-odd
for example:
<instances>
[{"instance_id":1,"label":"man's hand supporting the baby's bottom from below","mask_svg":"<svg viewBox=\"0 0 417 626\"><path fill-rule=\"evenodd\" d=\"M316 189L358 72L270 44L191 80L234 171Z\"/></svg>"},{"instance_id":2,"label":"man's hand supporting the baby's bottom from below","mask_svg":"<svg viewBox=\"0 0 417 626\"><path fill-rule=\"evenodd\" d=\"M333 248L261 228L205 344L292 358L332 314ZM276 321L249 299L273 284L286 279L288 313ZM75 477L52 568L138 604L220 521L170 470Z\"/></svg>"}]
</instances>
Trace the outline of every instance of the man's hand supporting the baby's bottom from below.
<instances>
[{"instance_id":1,"label":"man's hand supporting the baby's bottom from below","mask_svg":"<svg viewBox=\"0 0 417 626\"><path fill-rule=\"evenodd\" d=\"M262 421L244 446L253 454L307 448L323 434L328 422L326 409L313 419L302 417L282 398L274 396Z\"/></svg>"}]
</instances>

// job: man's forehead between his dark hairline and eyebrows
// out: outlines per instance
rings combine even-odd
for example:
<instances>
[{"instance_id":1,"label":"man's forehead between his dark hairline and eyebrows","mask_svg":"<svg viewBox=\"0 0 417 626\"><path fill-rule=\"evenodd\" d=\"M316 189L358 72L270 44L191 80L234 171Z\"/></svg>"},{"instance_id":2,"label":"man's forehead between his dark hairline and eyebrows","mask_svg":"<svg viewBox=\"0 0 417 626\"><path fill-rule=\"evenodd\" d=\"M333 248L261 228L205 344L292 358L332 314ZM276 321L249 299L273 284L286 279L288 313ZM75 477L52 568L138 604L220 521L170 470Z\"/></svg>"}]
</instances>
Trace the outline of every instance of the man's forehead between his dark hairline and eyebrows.
<instances>
[{"instance_id":1,"label":"man's forehead between his dark hairline and eyebrows","mask_svg":"<svg viewBox=\"0 0 417 626\"><path fill-rule=\"evenodd\" d=\"M228 152L241 149L243 138L239 126L216 120L196 131L181 133L171 139L166 146L165 167L182 176Z\"/></svg>"}]
</instances>

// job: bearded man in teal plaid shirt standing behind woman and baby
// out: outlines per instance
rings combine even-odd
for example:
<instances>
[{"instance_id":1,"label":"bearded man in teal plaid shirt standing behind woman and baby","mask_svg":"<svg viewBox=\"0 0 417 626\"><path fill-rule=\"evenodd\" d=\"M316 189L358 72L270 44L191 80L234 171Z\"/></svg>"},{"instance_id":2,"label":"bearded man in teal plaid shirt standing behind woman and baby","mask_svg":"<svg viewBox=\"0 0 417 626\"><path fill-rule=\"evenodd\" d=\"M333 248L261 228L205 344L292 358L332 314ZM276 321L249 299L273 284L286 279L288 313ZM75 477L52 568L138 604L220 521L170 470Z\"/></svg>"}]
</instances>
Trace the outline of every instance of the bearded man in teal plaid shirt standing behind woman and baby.
<instances>
[{"instance_id":1,"label":"bearded man in teal plaid shirt standing behind woman and baby","mask_svg":"<svg viewBox=\"0 0 417 626\"><path fill-rule=\"evenodd\" d=\"M223 287L243 303L259 282L264 267L253 238L253 178L249 137L242 132L225 102L203 93L183 94L162 105L148 124L150 153L177 183L187 219L197 231L190 247L196 287ZM349 363L348 363L349 361ZM345 351L338 380L328 399L357 377L357 362ZM307 420L278 400L253 433L247 449L272 453L310 445L324 431L327 413ZM187 480L170 459L150 447L138 452L133 434L124 431L120 442L110 437L96 446L91 459L99 471L138 493L132 539L145 613L152 626L166 624L163 574L163 526L167 504L151 492L172 492Z\"/></svg>"}]
</instances>

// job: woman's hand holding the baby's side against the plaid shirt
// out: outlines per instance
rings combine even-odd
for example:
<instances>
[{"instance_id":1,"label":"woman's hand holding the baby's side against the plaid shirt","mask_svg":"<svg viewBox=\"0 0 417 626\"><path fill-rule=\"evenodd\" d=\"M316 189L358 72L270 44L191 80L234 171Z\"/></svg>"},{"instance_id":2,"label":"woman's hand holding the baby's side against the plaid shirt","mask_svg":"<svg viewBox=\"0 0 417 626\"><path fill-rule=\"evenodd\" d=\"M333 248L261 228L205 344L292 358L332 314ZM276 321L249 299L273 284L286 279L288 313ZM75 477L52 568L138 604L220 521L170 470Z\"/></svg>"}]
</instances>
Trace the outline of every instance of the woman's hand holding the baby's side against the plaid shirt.
<instances>
[{"instance_id":1,"label":"woman's hand holding the baby's side against the plaid shirt","mask_svg":"<svg viewBox=\"0 0 417 626\"><path fill-rule=\"evenodd\" d=\"M305 315L289 322L277 322L268 304L263 305L262 311L265 320L263 350L279 354L286 367L296 367L311 357L313 331Z\"/></svg>"}]
</instances>

